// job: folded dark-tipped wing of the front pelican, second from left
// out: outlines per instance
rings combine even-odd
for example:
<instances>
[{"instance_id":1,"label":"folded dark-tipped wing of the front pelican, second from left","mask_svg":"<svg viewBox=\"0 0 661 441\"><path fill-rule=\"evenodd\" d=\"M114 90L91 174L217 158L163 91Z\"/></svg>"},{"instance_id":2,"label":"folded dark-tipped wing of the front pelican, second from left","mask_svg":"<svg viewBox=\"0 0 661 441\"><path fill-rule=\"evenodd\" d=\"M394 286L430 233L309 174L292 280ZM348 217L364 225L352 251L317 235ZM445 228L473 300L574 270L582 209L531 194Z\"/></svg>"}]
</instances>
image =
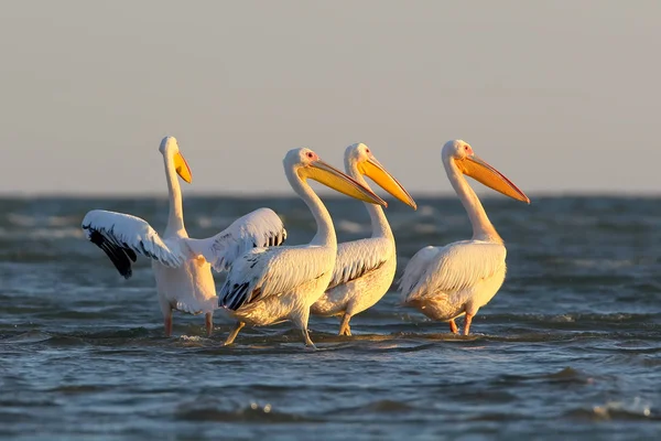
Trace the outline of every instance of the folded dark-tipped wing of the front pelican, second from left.
<instances>
[{"instance_id":1,"label":"folded dark-tipped wing of the front pelican, second from left","mask_svg":"<svg viewBox=\"0 0 661 441\"><path fill-rule=\"evenodd\" d=\"M218 294L219 304L236 311L292 291L332 271L333 261L333 251L325 247L253 248L231 266Z\"/></svg>"}]
</instances>

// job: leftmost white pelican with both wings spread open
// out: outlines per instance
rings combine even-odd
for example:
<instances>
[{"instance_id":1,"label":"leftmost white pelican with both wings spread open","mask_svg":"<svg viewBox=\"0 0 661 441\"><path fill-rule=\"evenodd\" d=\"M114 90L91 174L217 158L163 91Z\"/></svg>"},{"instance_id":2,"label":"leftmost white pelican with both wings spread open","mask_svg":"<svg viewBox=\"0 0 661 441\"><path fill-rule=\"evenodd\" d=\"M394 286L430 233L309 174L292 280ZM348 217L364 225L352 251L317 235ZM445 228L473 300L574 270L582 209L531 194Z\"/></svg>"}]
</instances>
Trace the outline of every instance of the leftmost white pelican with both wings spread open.
<instances>
[{"instance_id":1,"label":"leftmost white pelican with both wings spread open","mask_svg":"<svg viewBox=\"0 0 661 441\"><path fill-rule=\"evenodd\" d=\"M207 335L210 335L214 309L218 306L212 265L220 271L249 248L280 245L286 232L275 213L260 208L214 237L188 239L176 174L191 183L191 169L175 138L163 138L159 151L163 154L170 193L170 215L163 236L140 217L102 209L87 213L83 229L126 279L132 275L131 261L137 260L137 254L152 259L167 336L172 334L173 310L189 314L204 312Z\"/></svg>"}]
</instances>

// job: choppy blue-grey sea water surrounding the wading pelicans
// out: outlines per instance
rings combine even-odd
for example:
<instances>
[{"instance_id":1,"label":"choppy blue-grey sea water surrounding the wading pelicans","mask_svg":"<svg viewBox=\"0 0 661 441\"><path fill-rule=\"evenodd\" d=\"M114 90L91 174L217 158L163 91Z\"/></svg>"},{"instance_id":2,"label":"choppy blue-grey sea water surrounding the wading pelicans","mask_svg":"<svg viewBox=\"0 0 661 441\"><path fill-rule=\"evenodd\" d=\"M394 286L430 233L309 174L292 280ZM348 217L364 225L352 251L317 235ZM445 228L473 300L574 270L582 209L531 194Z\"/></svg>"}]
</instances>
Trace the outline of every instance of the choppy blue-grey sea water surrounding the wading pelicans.
<instances>
[{"instance_id":1,"label":"choppy blue-grey sea water surrounding the wading pelicans","mask_svg":"<svg viewBox=\"0 0 661 441\"><path fill-rule=\"evenodd\" d=\"M361 204L326 197L339 240L370 234ZM392 201L401 275L421 247L467 239L454 197ZM163 198L0 200L0 438L66 440L661 439L661 198L484 201L508 277L468 337L398 306L351 321L245 329L175 313L163 336L151 269L123 280L85 240L85 213L164 228ZM187 197L207 237L261 206L289 244L313 236L295 198ZM219 288L223 276L216 277ZM459 326L462 320L457 321Z\"/></svg>"}]
</instances>

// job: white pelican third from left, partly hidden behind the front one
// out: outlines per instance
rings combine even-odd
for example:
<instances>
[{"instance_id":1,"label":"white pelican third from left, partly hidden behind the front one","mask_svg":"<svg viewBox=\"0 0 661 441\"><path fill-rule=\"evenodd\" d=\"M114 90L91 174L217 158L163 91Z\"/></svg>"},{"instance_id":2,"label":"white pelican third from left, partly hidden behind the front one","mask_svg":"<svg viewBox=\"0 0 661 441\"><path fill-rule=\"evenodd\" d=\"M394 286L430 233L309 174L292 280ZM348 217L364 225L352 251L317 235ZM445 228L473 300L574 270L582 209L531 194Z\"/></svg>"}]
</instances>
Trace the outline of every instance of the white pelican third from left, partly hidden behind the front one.
<instances>
[{"instance_id":1,"label":"white pelican third from left, partly hidden behind the front one","mask_svg":"<svg viewBox=\"0 0 661 441\"><path fill-rule=\"evenodd\" d=\"M370 178L413 209L416 208L411 195L383 169L366 144L347 147L345 170L366 187L369 189L369 185L362 175ZM368 203L365 207L371 219L371 237L337 246L337 260L330 283L311 309L317 315L342 315L339 335L351 335L351 318L381 300L392 284L397 269L394 237L383 208Z\"/></svg>"}]
</instances>

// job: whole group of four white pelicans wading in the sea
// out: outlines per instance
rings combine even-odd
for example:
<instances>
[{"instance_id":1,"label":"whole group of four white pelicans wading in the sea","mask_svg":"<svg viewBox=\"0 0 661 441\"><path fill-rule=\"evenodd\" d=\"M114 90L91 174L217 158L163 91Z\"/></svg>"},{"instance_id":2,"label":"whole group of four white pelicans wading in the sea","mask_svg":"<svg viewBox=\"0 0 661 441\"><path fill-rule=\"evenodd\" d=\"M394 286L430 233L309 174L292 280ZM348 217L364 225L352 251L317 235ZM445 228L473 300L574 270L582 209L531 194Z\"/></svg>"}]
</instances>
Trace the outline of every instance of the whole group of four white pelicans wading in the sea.
<instances>
[{"instance_id":1,"label":"whole group of four white pelicans wading in the sea","mask_svg":"<svg viewBox=\"0 0 661 441\"><path fill-rule=\"evenodd\" d=\"M189 238L178 178L191 183L191 169L175 138L165 137L159 151L170 200L162 236L139 217L102 209L88 212L82 226L87 239L101 248L127 279L138 255L151 259L167 336L175 310L204 313L210 336L214 311L219 309L236 321L225 345L232 344L247 324L291 321L305 345L314 347L307 330L311 313L340 316L339 335L350 336L351 318L375 305L390 289L397 269L394 235L381 207L386 202L371 191L365 176L413 209L416 205L366 144L345 150L346 174L310 149L286 153L285 176L312 212L317 228L308 244L294 246L281 246L286 230L269 208L238 218L213 237ZM441 157L470 219L473 238L419 250L407 265L399 290L404 305L448 322L455 334L455 319L465 315L464 334L468 335L473 318L505 281L507 250L465 175L517 201L530 200L462 140L446 142ZM371 237L338 245L330 214L308 180L362 201L371 220ZM218 294L212 269L227 271Z\"/></svg>"}]
</instances>

